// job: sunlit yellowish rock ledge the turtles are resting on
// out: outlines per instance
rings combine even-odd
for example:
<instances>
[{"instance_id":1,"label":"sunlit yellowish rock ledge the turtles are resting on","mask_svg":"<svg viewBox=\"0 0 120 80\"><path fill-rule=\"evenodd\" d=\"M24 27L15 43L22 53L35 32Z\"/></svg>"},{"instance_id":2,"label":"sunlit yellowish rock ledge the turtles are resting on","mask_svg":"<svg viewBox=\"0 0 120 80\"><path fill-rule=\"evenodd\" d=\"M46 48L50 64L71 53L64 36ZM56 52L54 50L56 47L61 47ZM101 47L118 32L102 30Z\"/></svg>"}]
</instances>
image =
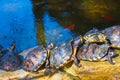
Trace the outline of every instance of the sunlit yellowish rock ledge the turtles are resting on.
<instances>
[{"instance_id":1,"label":"sunlit yellowish rock ledge the turtles are resting on","mask_svg":"<svg viewBox=\"0 0 120 80\"><path fill-rule=\"evenodd\" d=\"M20 53L23 57L29 50ZM120 51L117 51L120 54ZM39 74L26 72L23 69L6 72L0 70L0 80L118 80L120 79L120 56L113 58L116 62L111 65L108 61L90 62L81 61L82 67L78 68L74 64L57 73L44 76L41 71Z\"/></svg>"}]
</instances>

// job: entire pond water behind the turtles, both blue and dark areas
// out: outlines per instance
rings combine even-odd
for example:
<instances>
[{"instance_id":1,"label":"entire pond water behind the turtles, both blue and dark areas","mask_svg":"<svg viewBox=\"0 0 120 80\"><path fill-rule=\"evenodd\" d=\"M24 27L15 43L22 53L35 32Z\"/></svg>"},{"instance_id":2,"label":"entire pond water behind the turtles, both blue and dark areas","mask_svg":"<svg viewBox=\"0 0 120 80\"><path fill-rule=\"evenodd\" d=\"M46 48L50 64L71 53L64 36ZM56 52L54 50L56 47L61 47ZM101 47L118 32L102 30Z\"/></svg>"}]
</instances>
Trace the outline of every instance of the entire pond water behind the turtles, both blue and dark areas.
<instances>
[{"instance_id":1,"label":"entire pond water behind the turtles, both blue and dark areas","mask_svg":"<svg viewBox=\"0 0 120 80\"><path fill-rule=\"evenodd\" d=\"M60 44L92 28L119 25L120 1L96 0L1 0L0 45L16 52Z\"/></svg>"}]
</instances>

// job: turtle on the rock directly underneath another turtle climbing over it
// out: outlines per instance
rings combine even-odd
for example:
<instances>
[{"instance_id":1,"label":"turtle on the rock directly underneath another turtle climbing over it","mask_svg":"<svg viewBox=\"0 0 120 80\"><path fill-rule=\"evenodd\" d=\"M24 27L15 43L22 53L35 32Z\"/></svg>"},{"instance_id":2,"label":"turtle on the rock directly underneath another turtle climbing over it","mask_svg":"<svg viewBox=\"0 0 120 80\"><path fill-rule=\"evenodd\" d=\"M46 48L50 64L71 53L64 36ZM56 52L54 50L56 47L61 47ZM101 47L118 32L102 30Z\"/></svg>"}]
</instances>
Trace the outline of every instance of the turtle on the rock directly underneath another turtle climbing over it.
<instances>
[{"instance_id":1,"label":"turtle on the rock directly underneath another turtle climbing over it","mask_svg":"<svg viewBox=\"0 0 120 80\"><path fill-rule=\"evenodd\" d=\"M114 51L110 50L108 44L96 44L92 43L88 47L86 44L81 45L77 52L77 58L80 60L88 61L105 61L108 60L111 64L114 64L114 61L111 59Z\"/></svg>"}]
</instances>

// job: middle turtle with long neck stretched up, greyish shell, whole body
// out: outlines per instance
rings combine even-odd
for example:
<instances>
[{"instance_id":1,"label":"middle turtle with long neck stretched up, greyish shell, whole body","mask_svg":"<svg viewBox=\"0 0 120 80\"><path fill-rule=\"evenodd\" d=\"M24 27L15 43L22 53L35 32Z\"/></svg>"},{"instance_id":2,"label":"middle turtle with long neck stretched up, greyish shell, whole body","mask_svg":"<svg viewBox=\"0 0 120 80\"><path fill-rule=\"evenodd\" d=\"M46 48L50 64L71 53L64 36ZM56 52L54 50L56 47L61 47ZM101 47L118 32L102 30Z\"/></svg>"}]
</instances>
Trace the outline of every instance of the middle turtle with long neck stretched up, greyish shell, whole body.
<instances>
[{"instance_id":1,"label":"middle turtle with long neck stretched up, greyish shell, whole body","mask_svg":"<svg viewBox=\"0 0 120 80\"><path fill-rule=\"evenodd\" d=\"M60 45L55 45L54 48L50 50L50 68L47 68L44 74L52 74L67 65L70 67L73 62L77 67L80 67L80 60L76 57L76 52L80 43L81 36L77 36Z\"/></svg>"}]
</instances>

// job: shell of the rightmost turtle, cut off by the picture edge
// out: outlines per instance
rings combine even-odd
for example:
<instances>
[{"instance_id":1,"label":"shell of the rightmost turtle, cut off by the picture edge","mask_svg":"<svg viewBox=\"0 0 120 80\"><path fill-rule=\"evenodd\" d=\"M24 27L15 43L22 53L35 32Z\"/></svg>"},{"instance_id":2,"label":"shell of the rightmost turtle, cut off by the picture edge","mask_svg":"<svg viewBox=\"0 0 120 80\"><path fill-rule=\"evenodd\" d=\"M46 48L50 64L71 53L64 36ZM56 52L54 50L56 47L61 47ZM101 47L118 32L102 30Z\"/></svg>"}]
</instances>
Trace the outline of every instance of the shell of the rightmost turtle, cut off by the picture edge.
<instances>
[{"instance_id":1,"label":"shell of the rightmost turtle, cut off by the picture edge","mask_svg":"<svg viewBox=\"0 0 120 80\"><path fill-rule=\"evenodd\" d=\"M112 47L120 49L120 25L106 28L102 32L107 35Z\"/></svg>"}]
</instances>

